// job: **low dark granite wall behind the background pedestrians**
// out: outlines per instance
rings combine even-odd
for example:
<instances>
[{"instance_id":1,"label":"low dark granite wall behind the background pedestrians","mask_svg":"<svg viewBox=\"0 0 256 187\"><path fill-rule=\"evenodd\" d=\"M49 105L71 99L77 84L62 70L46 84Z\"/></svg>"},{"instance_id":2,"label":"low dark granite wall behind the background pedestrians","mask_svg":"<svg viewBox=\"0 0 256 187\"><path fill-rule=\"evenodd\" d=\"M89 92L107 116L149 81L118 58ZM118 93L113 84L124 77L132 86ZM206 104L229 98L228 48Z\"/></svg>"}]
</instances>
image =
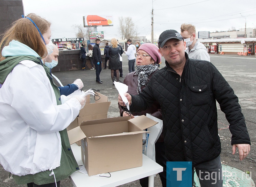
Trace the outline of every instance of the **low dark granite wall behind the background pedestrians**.
<instances>
[{"instance_id":1,"label":"low dark granite wall behind the background pedestrians","mask_svg":"<svg viewBox=\"0 0 256 187\"><path fill-rule=\"evenodd\" d=\"M58 65L52 69L52 72L56 71L70 71L82 69L82 60L79 59L79 50L67 50L60 51L58 57ZM101 55L102 68L104 67L105 57ZM86 56L86 69L91 69L91 62L88 56Z\"/></svg>"}]
</instances>

